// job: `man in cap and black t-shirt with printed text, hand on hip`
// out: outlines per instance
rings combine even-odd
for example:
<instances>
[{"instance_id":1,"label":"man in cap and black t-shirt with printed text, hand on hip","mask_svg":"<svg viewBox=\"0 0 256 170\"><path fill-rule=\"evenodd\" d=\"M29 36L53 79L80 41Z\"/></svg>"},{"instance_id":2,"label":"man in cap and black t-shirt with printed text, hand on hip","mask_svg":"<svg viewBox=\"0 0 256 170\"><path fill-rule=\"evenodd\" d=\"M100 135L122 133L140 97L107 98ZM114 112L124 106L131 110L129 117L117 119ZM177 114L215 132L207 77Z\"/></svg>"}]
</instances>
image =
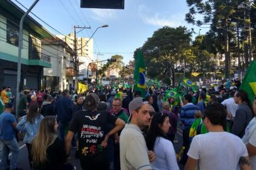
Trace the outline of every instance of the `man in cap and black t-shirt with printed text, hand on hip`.
<instances>
[{"instance_id":1,"label":"man in cap and black t-shirt with printed text, hand on hip","mask_svg":"<svg viewBox=\"0 0 256 170\"><path fill-rule=\"evenodd\" d=\"M124 128L124 121L108 111L98 111L100 99L90 93L84 99L84 110L77 111L66 135L66 153L69 156L71 140L78 133L79 159L82 169L110 169L108 161L108 138ZM109 124L115 125L109 131ZM108 131L108 132L107 132Z\"/></svg>"}]
</instances>

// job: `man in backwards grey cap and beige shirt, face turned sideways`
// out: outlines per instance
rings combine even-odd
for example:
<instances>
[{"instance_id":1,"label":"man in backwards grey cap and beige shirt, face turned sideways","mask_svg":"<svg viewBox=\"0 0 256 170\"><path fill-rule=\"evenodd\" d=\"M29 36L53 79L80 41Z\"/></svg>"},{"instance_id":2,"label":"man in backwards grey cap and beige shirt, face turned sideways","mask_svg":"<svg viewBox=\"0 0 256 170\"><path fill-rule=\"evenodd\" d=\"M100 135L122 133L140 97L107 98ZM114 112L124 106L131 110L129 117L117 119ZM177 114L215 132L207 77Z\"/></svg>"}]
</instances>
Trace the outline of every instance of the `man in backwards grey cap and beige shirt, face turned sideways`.
<instances>
[{"instance_id":1,"label":"man in backwards grey cap and beige shirt, face turned sideways","mask_svg":"<svg viewBox=\"0 0 256 170\"><path fill-rule=\"evenodd\" d=\"M134 98L129 103L129 111L131 123L125 125L119 140L121 169L152 169L150 162L153 162L156 157L153 151L148 151L143 132L141 132L150 123L151 108L148 101L143 101L143 98Z\"/></svg>"}]
</instances>

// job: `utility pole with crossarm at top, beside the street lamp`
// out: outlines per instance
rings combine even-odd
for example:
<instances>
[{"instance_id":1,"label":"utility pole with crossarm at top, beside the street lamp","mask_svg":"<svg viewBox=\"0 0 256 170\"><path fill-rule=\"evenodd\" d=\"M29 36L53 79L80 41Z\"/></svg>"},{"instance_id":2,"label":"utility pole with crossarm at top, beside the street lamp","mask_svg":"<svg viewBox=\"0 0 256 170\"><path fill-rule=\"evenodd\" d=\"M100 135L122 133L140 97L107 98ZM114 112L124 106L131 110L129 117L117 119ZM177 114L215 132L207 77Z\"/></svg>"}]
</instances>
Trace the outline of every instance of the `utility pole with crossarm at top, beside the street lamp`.
<instances>
[{"instance_id":1,"label":"utility pole with crossarm at top, beside the street lamp","mask_svg":"<svg viewBox=\"0 0 256 170\"><path fill-rule=\"evenodd\" d=\"M79 60L78 60L78 47L76 43L76 34L79 33L80 31L76 32L76 28L80 28L83 31L84 29L91 29L91 26L86 27L86 26L74 26L74 72L76 76L76 89L78 89L78 73L79 73ZM86 43L87 44L87 43ZM79 48L83 52L83 48Z\"/></svg>"}]
</instances>

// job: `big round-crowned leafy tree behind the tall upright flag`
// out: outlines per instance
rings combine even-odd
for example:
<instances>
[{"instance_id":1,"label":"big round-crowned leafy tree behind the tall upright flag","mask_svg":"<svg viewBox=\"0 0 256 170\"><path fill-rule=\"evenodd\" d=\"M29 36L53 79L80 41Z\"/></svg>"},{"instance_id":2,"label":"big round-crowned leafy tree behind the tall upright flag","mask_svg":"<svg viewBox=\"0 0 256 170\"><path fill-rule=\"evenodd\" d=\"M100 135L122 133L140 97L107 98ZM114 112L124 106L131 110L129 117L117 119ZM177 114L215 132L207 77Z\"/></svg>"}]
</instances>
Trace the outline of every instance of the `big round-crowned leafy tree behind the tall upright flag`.
<instances>
[{"instance_id":1,"label":"big round-crowned leafy tree behind the tall upright flag","mask_svg":"<svg viewBox=\"0 0 256 170\"><path fill-rule=\"evenodd\" d=\"M190 46L192 32L185 26L172 28L164 26L154 31L141 50L146 62L147 76L168 77L175 84L174 64L181 58L185 48Z\"/></svg>"}]
</instances>

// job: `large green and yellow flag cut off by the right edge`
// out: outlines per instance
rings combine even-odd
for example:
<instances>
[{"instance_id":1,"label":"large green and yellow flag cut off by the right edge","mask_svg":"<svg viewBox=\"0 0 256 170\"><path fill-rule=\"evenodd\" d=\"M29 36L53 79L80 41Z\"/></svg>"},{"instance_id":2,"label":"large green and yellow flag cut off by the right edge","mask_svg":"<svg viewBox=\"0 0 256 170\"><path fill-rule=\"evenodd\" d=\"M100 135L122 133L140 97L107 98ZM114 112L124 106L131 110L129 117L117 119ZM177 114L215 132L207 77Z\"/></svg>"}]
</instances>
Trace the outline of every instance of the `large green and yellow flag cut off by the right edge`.
<instances>
[{"instance_id":1,"label":"large green and yellow flag cut off by the right edge","mask_svg":"<svg viewBox=\"0 0 256 170\"><path fill-rule=\"evenodd\" d=\"M247 92L251 105L253 98L256 95L256 60L253 60L250 67L247 69L247 73L243 78L240 89Z\"/></svg>"}]
</instances>

